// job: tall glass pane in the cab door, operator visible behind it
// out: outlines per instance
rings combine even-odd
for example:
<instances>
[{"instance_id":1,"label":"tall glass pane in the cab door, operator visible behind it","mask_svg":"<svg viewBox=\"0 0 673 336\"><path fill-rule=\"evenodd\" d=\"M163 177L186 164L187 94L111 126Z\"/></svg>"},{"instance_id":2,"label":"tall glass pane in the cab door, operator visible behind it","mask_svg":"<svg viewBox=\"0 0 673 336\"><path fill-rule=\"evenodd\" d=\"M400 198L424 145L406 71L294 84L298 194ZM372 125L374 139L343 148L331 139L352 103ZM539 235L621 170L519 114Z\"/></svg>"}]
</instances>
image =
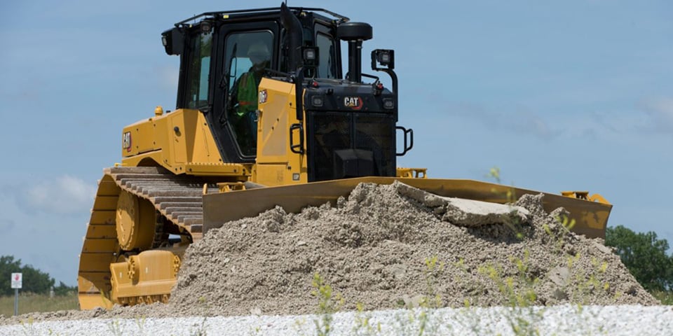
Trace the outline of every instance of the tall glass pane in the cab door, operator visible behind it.
<instances>
[{"instance_id":1,"label":"tall glass pane in the cab door, operator visible behind it","mask_svg":"<svg viewBox=\"0 0 673 336\"><path fill-rule=\"evenodd\" d=\"M252 156L257 152L257 92L271 67L273 34L266 30L231 33L226 36L224 52L228 124L240 152Z\"/></svg>"}]
</instances>

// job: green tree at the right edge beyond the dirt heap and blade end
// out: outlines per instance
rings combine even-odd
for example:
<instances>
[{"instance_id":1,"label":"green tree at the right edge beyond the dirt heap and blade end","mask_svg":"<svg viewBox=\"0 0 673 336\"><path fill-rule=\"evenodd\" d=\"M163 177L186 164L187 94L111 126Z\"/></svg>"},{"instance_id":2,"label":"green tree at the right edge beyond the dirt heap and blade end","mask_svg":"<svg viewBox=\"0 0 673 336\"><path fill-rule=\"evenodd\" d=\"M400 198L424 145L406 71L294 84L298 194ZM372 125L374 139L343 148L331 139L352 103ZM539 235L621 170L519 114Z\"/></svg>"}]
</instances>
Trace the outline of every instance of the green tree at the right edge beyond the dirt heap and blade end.
<instances>
[{"instance_id":1,"label":"green tree at the right edge beyond the dirt heap and blade end","mask_svg":"<svg viewBox=\"0 0 673 336\"><path fill-rule=\"evenodd\" d=\"M605 244L614 246L622 262L646 290L673 289L673 256L668 241L654 232L633 232L618 225L607 228Z\"/></svg>"}]
</instances>

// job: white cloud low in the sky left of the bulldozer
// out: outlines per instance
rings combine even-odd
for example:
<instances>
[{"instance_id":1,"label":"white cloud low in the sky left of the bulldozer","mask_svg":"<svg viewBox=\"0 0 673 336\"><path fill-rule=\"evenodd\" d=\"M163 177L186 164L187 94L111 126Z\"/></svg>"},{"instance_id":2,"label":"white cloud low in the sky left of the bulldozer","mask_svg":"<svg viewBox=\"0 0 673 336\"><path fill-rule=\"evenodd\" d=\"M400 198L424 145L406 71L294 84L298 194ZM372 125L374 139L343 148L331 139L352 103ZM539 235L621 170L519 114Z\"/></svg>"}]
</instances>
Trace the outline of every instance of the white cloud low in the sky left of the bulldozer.
<instances>
[{"instance_id":1,"label":"white cloud low in the sky left of the bulldozer","mask_svg":"<svg viewBox=\"0 0 673 336\"><path fill-rule=\"evenodd\" d=\"M20 191L19 206L29 212L81 214L93 206L96 187L72 176L60 176Z\"/></svg>"}]
</instances>

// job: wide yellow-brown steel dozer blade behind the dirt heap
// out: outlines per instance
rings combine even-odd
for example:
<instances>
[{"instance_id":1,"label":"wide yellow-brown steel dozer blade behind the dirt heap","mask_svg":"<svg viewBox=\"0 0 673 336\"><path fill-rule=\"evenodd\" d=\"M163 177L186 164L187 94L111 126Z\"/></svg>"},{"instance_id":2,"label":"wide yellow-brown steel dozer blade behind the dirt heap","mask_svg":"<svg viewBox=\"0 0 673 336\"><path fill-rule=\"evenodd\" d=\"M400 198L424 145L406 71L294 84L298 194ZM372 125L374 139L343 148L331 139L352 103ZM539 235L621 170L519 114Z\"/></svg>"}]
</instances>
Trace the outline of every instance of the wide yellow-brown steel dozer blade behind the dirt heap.
<instances>
[{"instance_id":1,"label":"wide yellow-brown steel dozer blade behind the dirt heap","mask_svg":"<svg viewBox=\"0 0 673 336\"><path fill-rule=\"evenodd\" d=\"M336 204L341 196L348 196L359 183L391 184L400 181L409 186L426 190L444 197L458 197L504 204L510 202L509 195L521 197L525 194L538 195L541 192L502 186L473 180L459 179L409 179L398 177L362 177L277 186L227 193L203 195L203 230L219 228L228 221L254 217L277 205L288 213L299 213L308 206L317 207L326 202ZM570 218L576 221L573 232L587 237L605 237L605 228L612 209L611 204L590 202L573 197L543 193L543 207L550 213L564 207Z\"/></svg>"}]
</instances>

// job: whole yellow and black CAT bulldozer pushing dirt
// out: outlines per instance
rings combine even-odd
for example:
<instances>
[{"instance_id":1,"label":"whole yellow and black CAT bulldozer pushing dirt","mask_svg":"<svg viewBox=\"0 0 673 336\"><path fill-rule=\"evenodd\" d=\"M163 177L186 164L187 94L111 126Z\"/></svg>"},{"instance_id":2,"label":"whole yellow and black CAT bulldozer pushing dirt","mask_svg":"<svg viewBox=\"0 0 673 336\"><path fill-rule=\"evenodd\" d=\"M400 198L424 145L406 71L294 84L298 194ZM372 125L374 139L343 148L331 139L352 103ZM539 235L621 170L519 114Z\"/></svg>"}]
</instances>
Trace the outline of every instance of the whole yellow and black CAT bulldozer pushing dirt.
<instances>
[{"instance_id":1,"label":"whole yellow and black CAT bulldozer pushing dirt","mask_svg":"<svg viewBox=\"0 0 673 336\"><path fill-rule=\"evenodd\" d=\"M83 242L81 309L168 302L186 247L210 228L335 202L358 183L511 201L508 186L397 167L414 133L397 125L394 51L371 54L390 87L362 72L370 38L366 23L285 4L203 13L164 31L165 52L180 57L177 107L123 129L121 164L104 169ZM587 193L545 194L544 207L565 207L588 237L604 236L611 210Z\"/></svg>"}]
</instances>

